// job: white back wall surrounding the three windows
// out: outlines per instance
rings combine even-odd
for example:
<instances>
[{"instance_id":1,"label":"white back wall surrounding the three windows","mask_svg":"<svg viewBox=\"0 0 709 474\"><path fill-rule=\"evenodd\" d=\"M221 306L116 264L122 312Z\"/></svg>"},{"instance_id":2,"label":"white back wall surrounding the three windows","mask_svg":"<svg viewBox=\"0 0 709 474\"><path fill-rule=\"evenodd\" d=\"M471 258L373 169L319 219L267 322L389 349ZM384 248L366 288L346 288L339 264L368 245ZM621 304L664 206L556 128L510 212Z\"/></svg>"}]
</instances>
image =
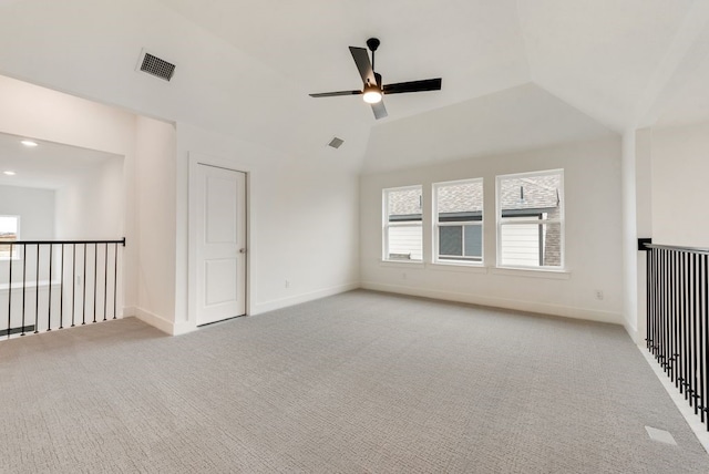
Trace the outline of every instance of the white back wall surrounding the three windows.
<instances>
[{"instance_id":1,"label":"white back wall surrounding the three windows","mask_svg":"<svg viewBox=\"0 0 709 474\"><path fill-rule=\"evenodd\" d=\"M600 140L362 176L362 286L623 323L620 150L619 140ZM399 153L405 156L405 146ZM568 274L495 269L495 176L556 168L564 169ZM484 178L484 268L380 261L382 188L423 185L424 260L430 262L431 185L479 177ZM603 300L596 290L603 290Z\"/></svg>"}]
</instances>

